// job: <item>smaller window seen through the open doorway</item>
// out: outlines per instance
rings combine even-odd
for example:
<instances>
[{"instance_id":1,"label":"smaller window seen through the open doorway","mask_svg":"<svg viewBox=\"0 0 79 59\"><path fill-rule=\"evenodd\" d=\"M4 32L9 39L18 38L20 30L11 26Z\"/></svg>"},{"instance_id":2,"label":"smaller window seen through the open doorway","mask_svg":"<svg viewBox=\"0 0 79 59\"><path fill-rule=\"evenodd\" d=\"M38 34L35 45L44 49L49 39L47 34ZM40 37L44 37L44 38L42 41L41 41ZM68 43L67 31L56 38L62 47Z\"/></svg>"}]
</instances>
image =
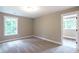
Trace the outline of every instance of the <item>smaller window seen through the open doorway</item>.
<instances>
[{"instance_id":1,"label":"smaller window seen through the open doorway","mask_svg":"<svg viewBox=\"0 0 79 59\"><path fill-rule=\"evenodd\" d=\"M76 29L76 17L64 18L64 29Z\"/></svg>"}]
</instances>

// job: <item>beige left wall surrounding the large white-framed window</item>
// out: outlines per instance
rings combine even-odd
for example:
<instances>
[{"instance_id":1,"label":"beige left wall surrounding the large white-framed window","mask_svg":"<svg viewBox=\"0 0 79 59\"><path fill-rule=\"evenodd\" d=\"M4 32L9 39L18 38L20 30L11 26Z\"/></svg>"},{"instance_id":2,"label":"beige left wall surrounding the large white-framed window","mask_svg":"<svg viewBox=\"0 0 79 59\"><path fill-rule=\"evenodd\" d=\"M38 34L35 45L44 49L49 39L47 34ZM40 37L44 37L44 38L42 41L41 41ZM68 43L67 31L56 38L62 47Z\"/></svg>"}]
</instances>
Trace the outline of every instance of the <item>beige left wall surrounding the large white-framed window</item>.
<instances>
[{"instance_id":1,"label":"beige left wall surrounding the large white-framed window","mask_svg":"<svg viewBox=\"0 0 79 59\"><path fill-rule=\"evenodd\" d=\"M18 18L18 35L4 36L4 16L14 16L10 14L0 14L0 41L15 39L32 35L32 19L15 16Z\"/></svg>"}]
</instances>

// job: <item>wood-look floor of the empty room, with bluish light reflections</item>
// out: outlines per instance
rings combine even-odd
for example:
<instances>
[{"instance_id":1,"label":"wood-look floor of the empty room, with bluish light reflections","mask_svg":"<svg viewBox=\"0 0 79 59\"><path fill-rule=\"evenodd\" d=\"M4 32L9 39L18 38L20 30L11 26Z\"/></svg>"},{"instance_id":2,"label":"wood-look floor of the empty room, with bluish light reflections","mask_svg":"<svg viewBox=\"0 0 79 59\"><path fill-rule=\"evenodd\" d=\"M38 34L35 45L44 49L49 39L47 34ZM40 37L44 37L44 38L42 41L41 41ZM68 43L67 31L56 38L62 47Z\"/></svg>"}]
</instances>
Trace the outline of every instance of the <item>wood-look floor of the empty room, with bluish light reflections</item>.
<instances>
[{"instance_id":1,"label":"wood-look floor of the empty room, with bluish light reflections","mask_svg":"<svg viewBox=\"0 0 79 59\"><path fill-rule=\"evenodd\" d=\"M75 48L60 46L38 38L28 38L0 44L1 53L73 53Z\"/></svg>"}]
</instances>

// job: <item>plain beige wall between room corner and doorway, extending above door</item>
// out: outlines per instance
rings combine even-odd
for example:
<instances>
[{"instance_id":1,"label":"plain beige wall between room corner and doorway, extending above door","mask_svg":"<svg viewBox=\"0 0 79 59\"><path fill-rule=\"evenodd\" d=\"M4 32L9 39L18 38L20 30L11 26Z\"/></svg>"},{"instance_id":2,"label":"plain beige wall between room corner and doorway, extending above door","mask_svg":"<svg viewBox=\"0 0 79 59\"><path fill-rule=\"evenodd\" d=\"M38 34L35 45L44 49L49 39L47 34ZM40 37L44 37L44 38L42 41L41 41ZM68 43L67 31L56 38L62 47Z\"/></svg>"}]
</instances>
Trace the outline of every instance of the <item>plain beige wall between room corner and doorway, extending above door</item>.
<instances>
[{"instance_id":1,"label":"plain beige wall between room corner and doorway, extending above door","mask_svg":"<svg viewBox=\"0 0 79 59\"><path fill-rule=\"evenodd\" d=\"M61 15L78 10L79 7L76 7L36 18L34 20L34 35L61 43L63 30Z\"/></svg>"}]
</instances>

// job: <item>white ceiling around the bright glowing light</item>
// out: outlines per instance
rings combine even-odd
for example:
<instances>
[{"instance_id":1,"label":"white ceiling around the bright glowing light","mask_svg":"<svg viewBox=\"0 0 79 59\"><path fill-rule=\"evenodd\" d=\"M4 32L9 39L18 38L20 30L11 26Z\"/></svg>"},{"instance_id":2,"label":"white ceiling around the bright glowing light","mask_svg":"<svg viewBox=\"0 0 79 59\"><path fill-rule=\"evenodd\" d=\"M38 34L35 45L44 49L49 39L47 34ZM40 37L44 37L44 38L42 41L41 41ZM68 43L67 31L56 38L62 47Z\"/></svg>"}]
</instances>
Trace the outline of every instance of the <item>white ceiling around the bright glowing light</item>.
<instances>
[{"instance_id":1,"label":"white ceiling around the bright glowing light","mask_svg":"<svg viewBox=\"0 0 79 59\"><path fill-rule=\"evenodd\" d=\"M66 10L69 8L72 7L71 6L40 6L38 11L29 13L21 10L20 6L1 6L0 12L9 13L18 16L25 16L29 18L36 18L49 13Z\"/></svg>"}]
</instances>

